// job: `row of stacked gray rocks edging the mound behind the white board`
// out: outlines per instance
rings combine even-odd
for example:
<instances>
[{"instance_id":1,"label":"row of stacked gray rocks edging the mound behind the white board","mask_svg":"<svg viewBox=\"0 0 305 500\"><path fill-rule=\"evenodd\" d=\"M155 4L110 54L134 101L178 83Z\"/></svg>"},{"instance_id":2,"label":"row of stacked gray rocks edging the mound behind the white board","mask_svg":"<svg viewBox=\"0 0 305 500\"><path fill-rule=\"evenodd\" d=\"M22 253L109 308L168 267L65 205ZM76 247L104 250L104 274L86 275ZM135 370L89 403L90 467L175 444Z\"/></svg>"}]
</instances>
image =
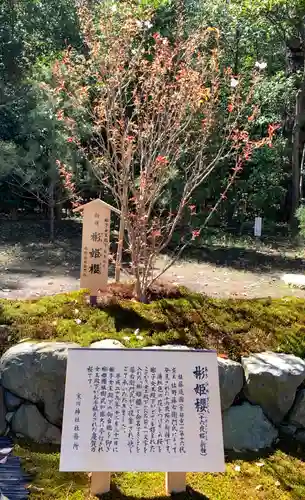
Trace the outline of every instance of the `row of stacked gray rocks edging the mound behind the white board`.
<instances>
[{"instance_id":1,"label":"row of stacked gray rocks edging the mound behind the white board","mask_svg":"<svg viewBox=\"0 0 305 500\"><path fill-rule=\"evenodd\" d=\"M63 342L24 342L0 361L0 435L59 444L67 350ZM124 348L118 340L91 348ZM147 347L146 349L157 348ZM160 349L188 349L166 345ZM263 352L241 363L218 358L224 445L228 450L272 446L279 434L305 444L305 361L292 354Z\"/></svg>"}]
</instances>

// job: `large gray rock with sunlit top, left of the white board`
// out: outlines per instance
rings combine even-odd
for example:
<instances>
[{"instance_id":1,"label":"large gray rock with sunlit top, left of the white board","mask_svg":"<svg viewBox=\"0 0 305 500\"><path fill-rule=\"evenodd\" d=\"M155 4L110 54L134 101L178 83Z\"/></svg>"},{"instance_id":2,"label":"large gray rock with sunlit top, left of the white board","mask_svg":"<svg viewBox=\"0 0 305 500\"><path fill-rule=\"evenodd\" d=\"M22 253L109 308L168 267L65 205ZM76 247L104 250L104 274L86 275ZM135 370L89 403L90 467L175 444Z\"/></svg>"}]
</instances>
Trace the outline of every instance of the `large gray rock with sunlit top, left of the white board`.
<instances>
[{"instance_id":1,"label":"large gray rock with sunlit top, left of the white board","mask_svg":"<svg viewBox=\"0 0 305 500\"><path fill-rule=\"evenodd\" d=\"M62 423L69 347L63 342L24 342L6 351L0 362L2 384L20 398L39 405L52 424Z\"/></svg>"}]
</instances>

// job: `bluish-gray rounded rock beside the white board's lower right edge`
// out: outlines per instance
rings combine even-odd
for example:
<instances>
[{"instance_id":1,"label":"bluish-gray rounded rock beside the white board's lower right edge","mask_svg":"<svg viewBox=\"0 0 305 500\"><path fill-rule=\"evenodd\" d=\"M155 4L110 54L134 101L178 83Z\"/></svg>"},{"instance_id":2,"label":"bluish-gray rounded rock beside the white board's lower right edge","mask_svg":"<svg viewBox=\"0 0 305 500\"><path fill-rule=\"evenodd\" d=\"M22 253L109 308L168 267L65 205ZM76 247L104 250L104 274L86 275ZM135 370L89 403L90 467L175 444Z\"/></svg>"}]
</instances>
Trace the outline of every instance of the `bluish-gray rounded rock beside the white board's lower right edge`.
<instances>
[{"instance_id":1,"label":"bluish-gray rounded rock beside the white board's lower right edge","mask_svg":"<svg viewBox=\"0 0 305 500\"><path fill-rule=\"evenodd\" d=\"M269 448L278 436L277 429L259 406L245 402L241 406L231 406L222 415L226 450Z\"/></svg>"}]
</instances>

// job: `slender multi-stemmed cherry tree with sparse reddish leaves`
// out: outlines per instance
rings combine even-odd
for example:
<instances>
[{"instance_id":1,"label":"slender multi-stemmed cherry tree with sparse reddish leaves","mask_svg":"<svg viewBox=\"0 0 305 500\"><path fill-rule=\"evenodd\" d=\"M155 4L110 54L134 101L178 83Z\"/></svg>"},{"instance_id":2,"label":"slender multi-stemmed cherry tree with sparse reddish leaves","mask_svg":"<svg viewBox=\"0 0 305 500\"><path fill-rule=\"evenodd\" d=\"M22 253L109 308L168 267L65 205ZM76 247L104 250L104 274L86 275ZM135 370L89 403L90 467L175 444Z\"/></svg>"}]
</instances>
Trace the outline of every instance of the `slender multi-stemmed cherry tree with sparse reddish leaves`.
<instances>
[{"instance_id":1,"label":"slender multi-stemmed cherry tree with sparse reddish leaves","mask_svg":"<svg viewBox=\"0 0 305 500\"><path fill-rule=\"evenodd\" d=\"M261 68L244 81L222 67L217 29L186 36L180 27L170 40L152 29L151 11L137 19L132 2L105 3L98 18L82 6L79 17L85 54L67 49L54 65L49 92L58 119L71 130L69 142L121 210L116 277L126 232L136 297L145 301L152 283L200 236L253 151L271 145L276 127L264 138L251 136ZM202 226L192 227L195 190L226 161L234 164L226 188ZM177 179L181 192L172 209ZM185 217L189 233L156 272Z\"/></svg>"}]
</instances>

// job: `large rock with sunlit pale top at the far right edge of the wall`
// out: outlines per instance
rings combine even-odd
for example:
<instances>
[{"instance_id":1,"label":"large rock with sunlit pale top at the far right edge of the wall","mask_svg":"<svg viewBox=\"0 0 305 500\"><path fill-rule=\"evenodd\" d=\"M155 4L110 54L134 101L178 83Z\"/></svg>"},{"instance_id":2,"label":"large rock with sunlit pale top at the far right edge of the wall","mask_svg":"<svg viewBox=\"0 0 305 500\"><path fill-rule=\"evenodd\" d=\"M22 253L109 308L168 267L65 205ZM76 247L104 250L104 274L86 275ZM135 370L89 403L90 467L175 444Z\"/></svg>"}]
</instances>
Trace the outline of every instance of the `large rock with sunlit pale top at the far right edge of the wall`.
<instances>
[{"instance_id":1,"label":"large rock with sunlit pale top at the far right edge of the wall","mask_svg":"<svg viewBox=\"0 0 305 500\"><path fill-rule=\"evenodd\" d=\"M245 395L262 407L274 423L282 422L305 379L305 361L293 354L261 352L242 358Z\"/></svg>"}]
</instances>

